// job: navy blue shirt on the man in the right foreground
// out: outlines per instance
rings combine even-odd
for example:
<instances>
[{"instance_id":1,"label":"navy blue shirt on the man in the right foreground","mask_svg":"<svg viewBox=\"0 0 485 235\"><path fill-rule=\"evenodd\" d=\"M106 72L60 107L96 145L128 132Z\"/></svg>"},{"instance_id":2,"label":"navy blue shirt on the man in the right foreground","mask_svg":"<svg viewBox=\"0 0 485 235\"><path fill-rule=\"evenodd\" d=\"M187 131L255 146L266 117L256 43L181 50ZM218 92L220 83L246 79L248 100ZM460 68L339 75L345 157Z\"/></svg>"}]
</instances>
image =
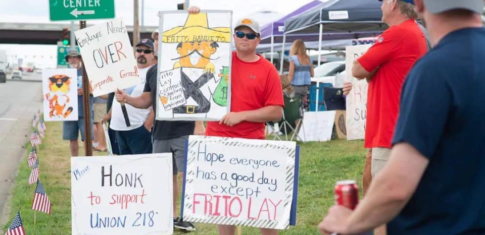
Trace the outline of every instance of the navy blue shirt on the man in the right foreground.
<instances>
[{"instance_id":1,"label":"navy blue shirt on the man in the right foreground","mask_svg":"<svg viewBox=\"0 0 485 235\"><path fill-rule=\"evenodd\" d=\"M485 234L485 29L445 36L404 83L393 145L429 160L387 234Z\"/></svg>"}]
</instances>

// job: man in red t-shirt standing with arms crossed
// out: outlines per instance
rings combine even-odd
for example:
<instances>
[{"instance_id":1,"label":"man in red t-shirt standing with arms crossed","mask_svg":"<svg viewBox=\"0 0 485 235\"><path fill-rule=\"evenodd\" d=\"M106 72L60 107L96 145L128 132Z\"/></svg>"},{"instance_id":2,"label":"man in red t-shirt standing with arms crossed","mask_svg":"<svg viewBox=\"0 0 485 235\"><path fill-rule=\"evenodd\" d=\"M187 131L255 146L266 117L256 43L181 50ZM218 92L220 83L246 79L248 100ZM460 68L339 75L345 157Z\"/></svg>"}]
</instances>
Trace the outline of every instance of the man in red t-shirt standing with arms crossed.
<instances>
[{"instance_id":1,"label":"man in red t-shirt standing with arms crossed","mask_svg":"<svg viewBox=\"0 0 485 235\"><path fill-rule=\"evenodd\" d=\"M415 21L418 15L413 0L384 0L381 10L382 21L389 29L354 61L352 69L355 78L369 82L364 147L371 152L367 155L371 160L366 159L366 164L371 164L372 177L389 159L404 79L426 53L426 40ZM350 88L348 83L344 84L345 94ZM368 179L366 173L364 180ZM364 182L364 191L368 183ZM385 234L385 226L376 229L375 234Z\"/></svg>"}]
</instances>

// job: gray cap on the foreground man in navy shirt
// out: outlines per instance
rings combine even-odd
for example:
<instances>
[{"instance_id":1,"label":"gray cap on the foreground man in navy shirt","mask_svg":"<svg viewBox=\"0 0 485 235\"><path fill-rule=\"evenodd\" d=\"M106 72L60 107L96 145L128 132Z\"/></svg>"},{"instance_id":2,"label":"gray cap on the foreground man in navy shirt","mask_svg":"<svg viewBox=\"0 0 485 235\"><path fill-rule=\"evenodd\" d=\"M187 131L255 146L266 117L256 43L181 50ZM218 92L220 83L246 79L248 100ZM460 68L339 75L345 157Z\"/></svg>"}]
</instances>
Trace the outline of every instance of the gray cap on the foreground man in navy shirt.
<instances>
[{"instance_id":1,"label":"gray cap on the foreground man in navy shirt","mask_svg":"<svg viewBox=\"0 0 485 235\"><path fill-rule=\"evenodd\" d=\"M438 14L450 10L463 9L480 14L483 12L483 0L423 0L429 12Z\"/></svg>"}]
</instances>

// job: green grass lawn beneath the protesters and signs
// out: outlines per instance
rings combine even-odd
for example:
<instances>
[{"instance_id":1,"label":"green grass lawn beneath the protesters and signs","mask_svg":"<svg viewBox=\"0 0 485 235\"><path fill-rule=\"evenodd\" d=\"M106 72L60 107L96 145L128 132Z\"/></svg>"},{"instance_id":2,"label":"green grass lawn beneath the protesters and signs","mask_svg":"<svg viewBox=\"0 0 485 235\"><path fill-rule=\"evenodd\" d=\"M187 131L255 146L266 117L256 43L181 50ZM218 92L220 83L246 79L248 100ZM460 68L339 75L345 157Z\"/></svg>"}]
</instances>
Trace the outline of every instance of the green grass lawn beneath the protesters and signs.
<instances>
[{"instance_id":1,"label":"green grass lawn beneath the protesters and signs","mask_svg":"<svg viewBox=\"0 0 485 235\"><path fill-rule=\"evenodd\" d=\"M35 185L28 186L30 168L26 158L19 169L15 183L9 222L21 207L21 216L25 230L29 235L65 235L71 234L71 199L70 199L70 152L68 141L62 140L62 123L47 124L46 138L39 151L40 181L53 204L52 212L47 215L31 208ZM355 179L360 185L366 150L362 141L332 140L330 142L299 143L300 181L298 192L297 225L282 230L280 234L319 234L317 225L327 209L334 203L333 187L338 180ZM26 145L27 146L27 145ZM80 154L84 153L82 144ZM95 154L100 154L96 153ZM181 193L179 194L181 195ZM180 200L178 203L180 208ZM196 224L197 231L190 234L218 234L214 224ZM243 227L243 234L258 234L258 228ZM184 234L175 231L174 234Z\"/></svg>"}]
</instances>

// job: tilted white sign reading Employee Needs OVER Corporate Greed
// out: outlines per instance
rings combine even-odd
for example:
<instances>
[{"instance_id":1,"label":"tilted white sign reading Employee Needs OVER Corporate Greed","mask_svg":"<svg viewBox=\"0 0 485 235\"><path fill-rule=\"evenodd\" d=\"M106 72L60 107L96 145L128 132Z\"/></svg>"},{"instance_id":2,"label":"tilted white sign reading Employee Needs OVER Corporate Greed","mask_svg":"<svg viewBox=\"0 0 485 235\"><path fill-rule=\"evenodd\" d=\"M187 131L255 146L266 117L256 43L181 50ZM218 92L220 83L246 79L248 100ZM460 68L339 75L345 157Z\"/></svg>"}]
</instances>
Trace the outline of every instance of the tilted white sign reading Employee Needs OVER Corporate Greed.
<instances>
[{"instance_id":1,"label":"tilted white sign reading Employee Needs OVER Corporate Greed","mask_svg":"<svg viewBox=\"0 0 485 235\"><path fill-rule=\"evenodd\" d=\"M93 96L141 82L128 31L122 20L113 20L74 32Z\"/></svg>"}]
</instances>

